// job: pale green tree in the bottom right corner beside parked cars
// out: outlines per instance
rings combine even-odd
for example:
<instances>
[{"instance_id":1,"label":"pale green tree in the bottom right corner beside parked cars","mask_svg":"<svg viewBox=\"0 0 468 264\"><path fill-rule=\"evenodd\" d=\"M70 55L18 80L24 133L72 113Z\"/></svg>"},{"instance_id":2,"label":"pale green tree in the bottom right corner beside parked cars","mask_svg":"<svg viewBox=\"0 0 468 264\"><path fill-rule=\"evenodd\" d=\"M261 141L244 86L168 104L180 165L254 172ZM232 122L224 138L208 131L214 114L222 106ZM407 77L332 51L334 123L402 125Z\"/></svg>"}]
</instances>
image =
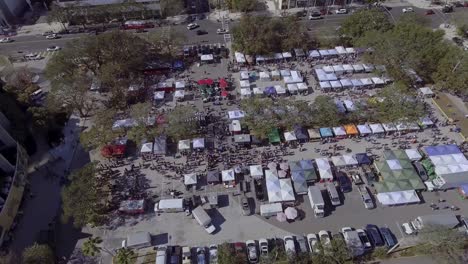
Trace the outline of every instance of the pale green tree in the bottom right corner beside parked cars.
<instances>
[{"instance_id":1,"label":"pale green tree in the bottom right corner beside parked cars","mask_svg":"<svg viewBox=\"0 0 468 264\"><path fill-rule=\"evenodd\" d=\"M457 229L443 226L428 226L419 233L421 249L424 253L431 255L438 263L466 263L465 249L468 240L462 232Z\"/></svg>"}]
</instances>

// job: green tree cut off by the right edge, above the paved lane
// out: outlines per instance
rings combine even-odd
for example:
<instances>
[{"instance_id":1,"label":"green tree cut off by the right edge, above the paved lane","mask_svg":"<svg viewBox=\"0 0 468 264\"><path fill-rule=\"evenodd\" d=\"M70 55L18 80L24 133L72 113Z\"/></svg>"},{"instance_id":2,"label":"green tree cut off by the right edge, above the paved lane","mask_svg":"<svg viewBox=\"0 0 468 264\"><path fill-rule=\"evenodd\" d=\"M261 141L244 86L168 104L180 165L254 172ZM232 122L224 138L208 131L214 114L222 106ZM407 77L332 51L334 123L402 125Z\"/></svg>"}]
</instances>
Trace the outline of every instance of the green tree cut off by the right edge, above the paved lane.
<instances>
[{"instance_id":1,"label":"green tree cut off by the right edge, above the paved lane","mask_svg":"<svg viewBox=\"0 0 468 264\"><path fill-rule=\"evenodd\" d=\"M435 88L447 90L459 95L468 95L468 56L466 51L455 46L448 46L447 53L439 61L437 71L432 78Z\"/></svg>"}]
</instances>

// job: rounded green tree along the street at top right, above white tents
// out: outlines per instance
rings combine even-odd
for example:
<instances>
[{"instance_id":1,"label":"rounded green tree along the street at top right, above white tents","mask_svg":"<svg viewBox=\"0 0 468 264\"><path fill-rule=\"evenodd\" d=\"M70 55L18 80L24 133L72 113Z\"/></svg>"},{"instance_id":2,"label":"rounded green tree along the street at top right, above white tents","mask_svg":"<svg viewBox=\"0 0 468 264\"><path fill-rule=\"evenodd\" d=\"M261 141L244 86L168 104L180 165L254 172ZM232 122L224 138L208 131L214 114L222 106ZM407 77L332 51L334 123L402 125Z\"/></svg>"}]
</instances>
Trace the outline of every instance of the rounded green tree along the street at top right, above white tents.
<instances>
[{"instance_id":1,"label":"rounded green tree along the street at top right, above white tents","mask_svg":"<svg viewBox=\"0 0 468 264\"><path fill-rule=\"evenodd\" d=\"M343 21L339 33L342 37L355 41L368 32L385 32L391 28L392 24L384 12L378 9L361 9Z\"/></svg>"}]
</instances>

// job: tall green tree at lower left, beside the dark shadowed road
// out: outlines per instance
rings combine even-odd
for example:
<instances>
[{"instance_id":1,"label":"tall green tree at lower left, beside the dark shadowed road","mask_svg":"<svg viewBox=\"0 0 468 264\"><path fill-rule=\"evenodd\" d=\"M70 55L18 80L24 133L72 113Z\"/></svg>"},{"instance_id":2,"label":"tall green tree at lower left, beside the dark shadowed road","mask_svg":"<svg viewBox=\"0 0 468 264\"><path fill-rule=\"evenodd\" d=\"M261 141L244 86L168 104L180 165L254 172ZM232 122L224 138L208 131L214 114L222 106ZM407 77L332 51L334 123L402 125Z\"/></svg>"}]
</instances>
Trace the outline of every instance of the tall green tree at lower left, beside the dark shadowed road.
<instances>
[{"instance_id":1,"label":"tall green tree at lower left, beside the dark shadowed road","mask_svg":"<svg viewBox=\"0 0 468 264\"><path fill-rule=\"evenodd\" d=\"M106 216L102 214L103 193L98 188L94 163L75 170L70 175L70 184L62 190L62 220L73 220L75 227L87 224L101 224Z\"/></svg>"}]
</instances>

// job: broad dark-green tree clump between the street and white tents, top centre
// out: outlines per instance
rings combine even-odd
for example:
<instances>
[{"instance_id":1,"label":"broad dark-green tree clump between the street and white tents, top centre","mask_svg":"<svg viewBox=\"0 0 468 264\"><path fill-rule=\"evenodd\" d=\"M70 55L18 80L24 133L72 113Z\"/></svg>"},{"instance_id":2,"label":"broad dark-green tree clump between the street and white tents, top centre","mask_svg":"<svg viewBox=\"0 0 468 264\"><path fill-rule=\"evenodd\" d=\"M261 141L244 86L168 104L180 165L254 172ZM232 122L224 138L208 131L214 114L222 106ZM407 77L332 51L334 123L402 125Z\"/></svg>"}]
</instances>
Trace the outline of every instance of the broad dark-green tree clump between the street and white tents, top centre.
<instances>
[{"instance_id":1,"label":"broad dark-green tree clump between the street and white tents, top centre","mask_svg":"<svg viewBox=\"0 0 468 264\"><path fill-rule=\"evenodd\" d=\"M293 16L272 18L245 15L231 31L234 50L253 56L311 45L305 28Z\"/></svg>"}]
</instances>

